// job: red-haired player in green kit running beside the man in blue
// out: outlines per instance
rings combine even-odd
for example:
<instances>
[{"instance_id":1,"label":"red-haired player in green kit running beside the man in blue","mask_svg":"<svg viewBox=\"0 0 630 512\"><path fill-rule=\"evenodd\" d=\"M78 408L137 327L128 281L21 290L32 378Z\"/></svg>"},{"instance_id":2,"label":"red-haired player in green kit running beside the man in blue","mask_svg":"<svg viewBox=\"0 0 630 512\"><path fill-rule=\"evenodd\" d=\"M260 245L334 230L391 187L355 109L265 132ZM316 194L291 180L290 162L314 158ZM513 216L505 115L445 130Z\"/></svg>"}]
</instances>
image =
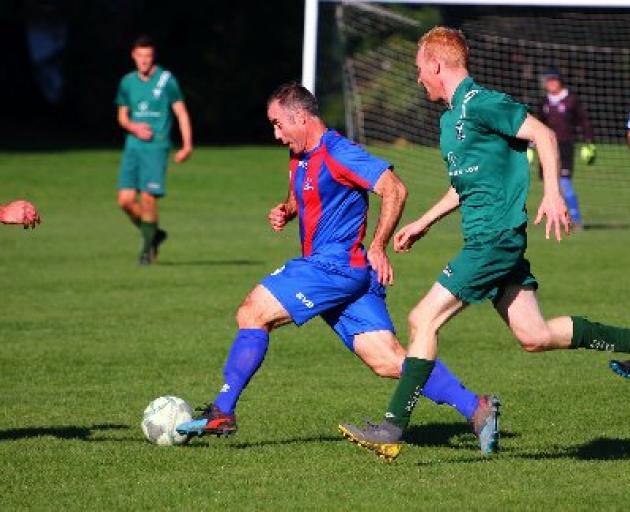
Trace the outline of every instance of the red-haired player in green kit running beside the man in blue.
<instances>
[{"instance_id":1,"label":"red-haired player in green kit running beside the man in blue","mask_svg":"<svg viewBox=\"0 0 630 512\"><path fill-rule=\"evenodd\" d=\"M394 248L406 252L431 226L461 210L464 247L409 315L410 343L404 370L384 421L365 427L340 425L350 440L388 460L427 382L438 352L438 331L469 304L490 299L528 352L591 349L630 352L630 329L582 317L545 320L536 298L538 284L525 259L529 172L525 155L533 142L543 167L544 195L536 224L562 238L570 221L559 188L554 132L509 96L486 89L469 76L468 48L458 30L435 27L419 42L418 83L447 109L440 120L440 149L450 187L424 215L403 227Z\"/></svg>"}]
</instances>

